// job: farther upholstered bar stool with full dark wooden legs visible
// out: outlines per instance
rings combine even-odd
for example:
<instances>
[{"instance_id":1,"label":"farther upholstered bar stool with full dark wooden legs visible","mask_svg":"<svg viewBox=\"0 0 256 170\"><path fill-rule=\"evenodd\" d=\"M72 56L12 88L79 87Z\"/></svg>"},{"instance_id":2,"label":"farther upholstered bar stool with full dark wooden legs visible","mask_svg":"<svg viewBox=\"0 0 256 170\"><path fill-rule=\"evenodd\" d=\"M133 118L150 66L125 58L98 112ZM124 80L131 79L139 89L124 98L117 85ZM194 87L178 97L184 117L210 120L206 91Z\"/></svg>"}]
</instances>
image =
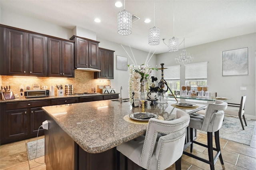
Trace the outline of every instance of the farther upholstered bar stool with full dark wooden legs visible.
<instances>
[{"instance_id":1,"label":"farther upholstered bar stool with full dark wooden legs visible","mask_svg":"<svg viewBox=\"0 0 256 170\"><path fill-rule=\"evenodd\" d=\"M191 141L190 153L184 151L183 154L210 164L211 170L214 170L214 164L216 163L218 158L220 158L220 163L222 164L222 168L225 169L224 162L220 152L219 129L222 126L222 122L224 119L224 110L227 108L227 106L228 106L228 103L224 101L216 100L215 103L208 103L205 115L201 115L198 113L190 114L190 123L188 125L188 127L190 127L190 141ZM207 145L193 140L193 128L207 132ZM212 146L212 132L214 132L216 148L213 148ZM209 160L200 158L192 154L193 143L199 144L201 146L208 148ZM215 156L213 155L213 150L217 151Z\"/></svg>"}]
</instances>

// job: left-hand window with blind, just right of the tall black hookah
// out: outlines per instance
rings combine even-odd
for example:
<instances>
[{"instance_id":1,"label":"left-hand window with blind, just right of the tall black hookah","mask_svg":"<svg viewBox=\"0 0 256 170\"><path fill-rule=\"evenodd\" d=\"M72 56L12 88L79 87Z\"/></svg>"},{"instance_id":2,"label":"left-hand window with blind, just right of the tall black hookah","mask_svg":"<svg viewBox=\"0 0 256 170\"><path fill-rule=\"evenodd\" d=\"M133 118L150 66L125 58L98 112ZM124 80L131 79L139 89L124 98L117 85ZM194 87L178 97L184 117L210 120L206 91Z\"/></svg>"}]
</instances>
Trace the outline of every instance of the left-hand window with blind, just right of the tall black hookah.
<instances>
[{"instance_id":1,"label":"left-hand window with blind, just right of the tall black hookah","mask_svg":"<svg viewBox=\"0 0 256 170\"><path fill-rule=\"evenodd\" d=\"M180 90L180 65L168 66L164 69L164 80L172 90L172 93ZM171 93L168 90L167 93Z\"/></svg>"}]
</instances>

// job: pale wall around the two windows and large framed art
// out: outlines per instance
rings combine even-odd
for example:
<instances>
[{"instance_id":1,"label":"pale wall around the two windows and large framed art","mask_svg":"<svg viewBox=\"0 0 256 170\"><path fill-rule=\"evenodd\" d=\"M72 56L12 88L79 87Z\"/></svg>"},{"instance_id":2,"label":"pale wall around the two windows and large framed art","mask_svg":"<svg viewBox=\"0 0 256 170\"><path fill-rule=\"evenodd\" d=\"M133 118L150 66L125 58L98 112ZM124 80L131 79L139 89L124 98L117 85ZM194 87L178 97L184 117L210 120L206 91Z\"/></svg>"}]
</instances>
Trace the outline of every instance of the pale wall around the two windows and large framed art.
<instances>
[{"instance_id":1,"label":"pale wall around the two windows and large framed art","mask_svg":"<svg viewBox=\"0 0 256 170\"><path fill-rule=\"evenodd\" d=\"M186 45L186 44L185 44ZM248 47L249 75L222 76L222 51ZM256 33L234 38L228 38L216 42L196 45L186 48L193 57L191 63L208 61L208 89L217 92L218 96L232 98L228 103L240 103L241 96L247 95L245 114L255 116L255 50ZM179 56L181 49L174 53L162 53L157 55L157 64L164 66L178 65L175 57ZM158 73L160 77L160 73ZM185 67L181 66L181 85L185 84ZM246 87L246 91L240 91L240 87Z\"/></svg>"}]
</instances>

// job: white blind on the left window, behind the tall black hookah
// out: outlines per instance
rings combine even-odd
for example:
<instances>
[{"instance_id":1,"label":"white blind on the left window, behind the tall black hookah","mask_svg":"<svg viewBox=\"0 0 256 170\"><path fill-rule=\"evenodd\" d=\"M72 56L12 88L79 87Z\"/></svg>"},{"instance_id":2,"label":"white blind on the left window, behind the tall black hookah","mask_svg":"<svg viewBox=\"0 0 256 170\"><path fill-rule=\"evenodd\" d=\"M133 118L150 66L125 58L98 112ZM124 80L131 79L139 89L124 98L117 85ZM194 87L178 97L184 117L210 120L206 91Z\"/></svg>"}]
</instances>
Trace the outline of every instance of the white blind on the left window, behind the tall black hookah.
<instances>
[{"instance_id":1,"label":"white blind on the left window, behind the tall black hookah","mask_svg":"<svg viewBox=\"0 0 256 170\"><path fill-rule=\"evenodd\" d=\"M165 80L177 80L180 79L180 65L167 66L164 69L164 79Z\"/></svg>"}]
</instances>

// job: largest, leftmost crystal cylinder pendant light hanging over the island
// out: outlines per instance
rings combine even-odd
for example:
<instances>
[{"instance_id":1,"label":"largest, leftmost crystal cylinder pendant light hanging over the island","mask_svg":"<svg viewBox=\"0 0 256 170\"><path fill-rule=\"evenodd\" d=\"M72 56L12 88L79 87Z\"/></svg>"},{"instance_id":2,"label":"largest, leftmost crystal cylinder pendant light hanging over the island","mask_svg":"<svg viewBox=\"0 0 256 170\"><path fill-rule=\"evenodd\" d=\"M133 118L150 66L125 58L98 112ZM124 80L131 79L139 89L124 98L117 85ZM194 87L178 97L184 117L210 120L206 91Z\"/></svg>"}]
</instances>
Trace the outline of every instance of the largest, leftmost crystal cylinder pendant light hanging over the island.
<instances>
[{"instance_id":1,"label":"largest, leftmost crystal cylinder pendant light hanging over the island","mask_svg":"<svg viewBox=\"0 0 256 170\"><path fill-rule=\"evenodd\" d=\"M132 34L132 14L125 10L125 1L124 10L117 14L117 32L122 36Z\"/></svg>"}]
</instances>

